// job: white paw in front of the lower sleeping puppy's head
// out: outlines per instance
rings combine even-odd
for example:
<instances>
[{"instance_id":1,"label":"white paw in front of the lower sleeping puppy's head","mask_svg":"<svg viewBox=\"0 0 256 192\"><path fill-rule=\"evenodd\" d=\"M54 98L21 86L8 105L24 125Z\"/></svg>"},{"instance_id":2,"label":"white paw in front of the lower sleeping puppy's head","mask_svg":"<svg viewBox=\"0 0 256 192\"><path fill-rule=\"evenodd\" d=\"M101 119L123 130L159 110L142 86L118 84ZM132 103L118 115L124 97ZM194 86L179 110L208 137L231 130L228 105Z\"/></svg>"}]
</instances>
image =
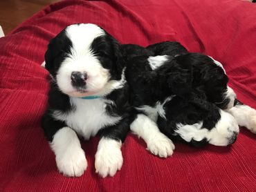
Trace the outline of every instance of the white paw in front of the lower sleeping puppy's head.
<instances>
[{"instance_id":1,"label":"white paw in front of the lower sleeping puppy's head","mask_svg":"<svg viewBox=\"0 0 256 192\"><path fill-rule=\"evenodd\" d=\"M154 135L149 142L147 142L147 150L149 150L154 155L159 157L168 157L174 153L174 144L172 140L163 135L163 133L157 133Z\"/></svg>"}]
</instances>

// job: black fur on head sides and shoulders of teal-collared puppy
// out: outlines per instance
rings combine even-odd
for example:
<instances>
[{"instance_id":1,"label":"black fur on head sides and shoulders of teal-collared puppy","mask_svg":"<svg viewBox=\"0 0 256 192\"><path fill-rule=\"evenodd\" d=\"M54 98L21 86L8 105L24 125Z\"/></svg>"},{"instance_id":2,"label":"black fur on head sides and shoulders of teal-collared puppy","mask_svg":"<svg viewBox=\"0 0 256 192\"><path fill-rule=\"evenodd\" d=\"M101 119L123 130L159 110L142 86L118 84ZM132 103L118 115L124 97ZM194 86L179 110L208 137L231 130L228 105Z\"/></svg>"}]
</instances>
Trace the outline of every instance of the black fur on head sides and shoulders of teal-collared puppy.
<instances>
[{"instance_id":1,"label":"black fur on head sides and shoulders of teal-collared puppy","mask_svg":"<svg viewBox=\"0 0 256 192\"><path fill-rule=\"evenodd\" d=\"M53 111L61 111L62 113L71 113L75 111L75 106L70 102L70 96L62 93L56 84L56 73L60 68L62 61L68 57L72 48L71 40L66 36L65 30L62 30L48 45L45 54L46 69L52 76L51 88L48 93L48 109L42 118L42 128L49 142L53 140L55 133L64 126L68 126L65 122L55 119L52 115ZM122 70L125 62L120 50L120 44L113 39L107 32L106 35L97 37L91 44L91 52L97 57L104 68L107 68L111 74L111 79L119 80L122 76ZM120 122L113 126L102 127L100 131L101 137L110 137L114 140L125 140L129 131L129 124L133 121L131 107L129 106L128 85L123 88L114 90L105 95L106 99L112 101L107 103L107 113L111 116L121 116Z\"/></svg>"}]
</instances>

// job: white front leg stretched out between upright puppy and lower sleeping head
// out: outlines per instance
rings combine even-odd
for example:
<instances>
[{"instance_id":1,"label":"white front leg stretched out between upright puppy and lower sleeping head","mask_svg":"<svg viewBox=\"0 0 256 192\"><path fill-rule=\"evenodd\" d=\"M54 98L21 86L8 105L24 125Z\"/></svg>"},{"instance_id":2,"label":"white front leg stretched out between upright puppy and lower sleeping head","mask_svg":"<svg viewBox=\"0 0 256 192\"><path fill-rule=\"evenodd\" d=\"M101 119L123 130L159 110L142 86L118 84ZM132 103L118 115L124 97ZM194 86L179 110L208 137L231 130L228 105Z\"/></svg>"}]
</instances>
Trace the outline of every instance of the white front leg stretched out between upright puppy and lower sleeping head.
<instances>
[{"instance_id":1,"label":"white front leg stretched out between upright puppy and lower sleeping head","mask_svg":"<svg viewBox=\"0 0 256 192\"><path fill-rule=\"evenodd\" d=\"M172 155L174 144L163 133L161 133L152 119L146 115L139 114L134 122L131 123L131 131L138 137L142 137L147 144L147 149L154 155L159 157L167 157Z\"/></svg>"}]
</instances>

